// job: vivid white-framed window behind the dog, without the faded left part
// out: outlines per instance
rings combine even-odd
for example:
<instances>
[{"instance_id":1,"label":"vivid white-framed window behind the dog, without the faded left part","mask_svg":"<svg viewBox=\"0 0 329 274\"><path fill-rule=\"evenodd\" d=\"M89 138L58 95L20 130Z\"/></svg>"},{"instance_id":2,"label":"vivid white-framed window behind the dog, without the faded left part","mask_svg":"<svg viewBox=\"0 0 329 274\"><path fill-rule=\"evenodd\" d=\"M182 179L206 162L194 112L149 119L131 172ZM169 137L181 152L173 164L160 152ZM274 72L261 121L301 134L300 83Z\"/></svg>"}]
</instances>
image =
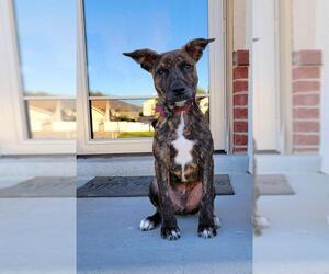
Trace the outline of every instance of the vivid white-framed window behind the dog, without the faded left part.
<instances>
[{"instance_id":1,"label":"vivid white-framed window behind the dog, without the faded left part","mask_svg":"<svg viewBox=\"0 0 329 274\"><path fill-rule=\"evenodd\" d=\"M150 151L154 134L150 122L157 100L152 78L122 53L139 48L163 53L196 37L216 37L217 45L207 48L197 64L197 102L211 122L216 149L224 149L222 1L80 0L79 3L82 39L79 41L78 152Z\"/></svg>"}]
</instances>

